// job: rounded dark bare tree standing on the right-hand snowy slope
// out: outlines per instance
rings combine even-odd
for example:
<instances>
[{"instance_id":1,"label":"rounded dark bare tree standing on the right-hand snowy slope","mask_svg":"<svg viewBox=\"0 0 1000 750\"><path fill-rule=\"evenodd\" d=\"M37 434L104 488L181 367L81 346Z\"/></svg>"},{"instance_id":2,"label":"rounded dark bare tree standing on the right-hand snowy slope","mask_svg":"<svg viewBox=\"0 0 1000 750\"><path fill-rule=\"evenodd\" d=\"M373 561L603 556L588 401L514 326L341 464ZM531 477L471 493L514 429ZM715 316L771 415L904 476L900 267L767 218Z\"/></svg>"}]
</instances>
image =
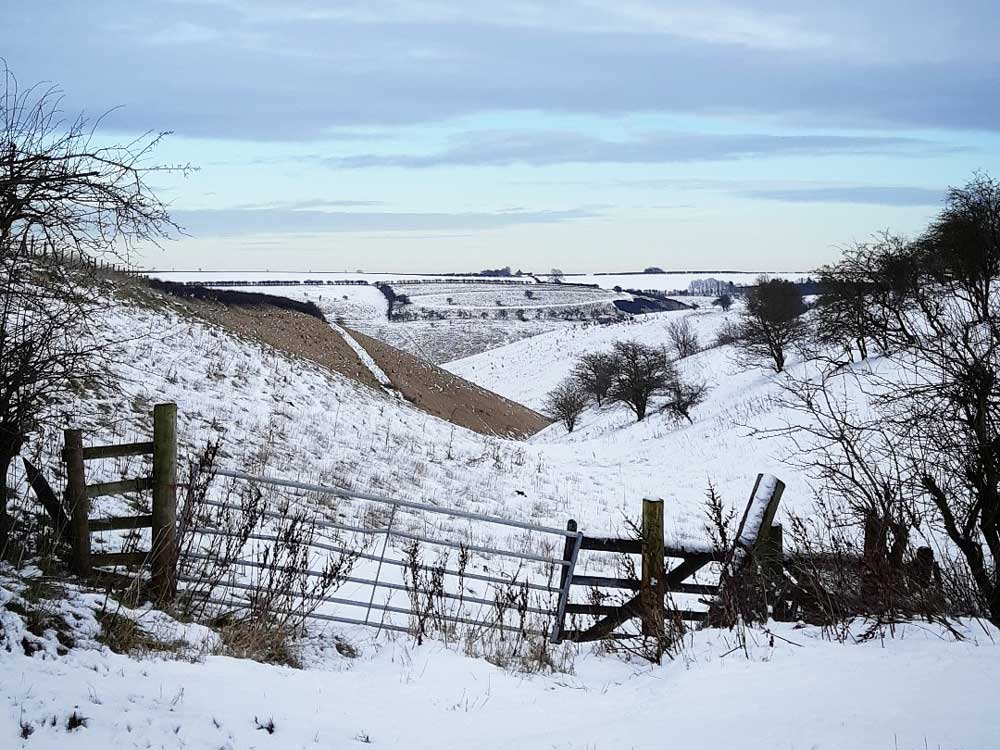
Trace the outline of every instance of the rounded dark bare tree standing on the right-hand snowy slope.
<instances>
[{"instance_id":1,"label":"rounded dark bare tree standing on the right-hand snowy slope","mask_svg":"<svg viewBox=\"0 0 1000 750\"><path fill-rule=\"evenodd\" d=\"M761 277L747 295L737 327L737 344L747 362L768 362L775 372L785 369L788 349L807 331L802 293L784 279Z\"/></svg>"}]
</instances>

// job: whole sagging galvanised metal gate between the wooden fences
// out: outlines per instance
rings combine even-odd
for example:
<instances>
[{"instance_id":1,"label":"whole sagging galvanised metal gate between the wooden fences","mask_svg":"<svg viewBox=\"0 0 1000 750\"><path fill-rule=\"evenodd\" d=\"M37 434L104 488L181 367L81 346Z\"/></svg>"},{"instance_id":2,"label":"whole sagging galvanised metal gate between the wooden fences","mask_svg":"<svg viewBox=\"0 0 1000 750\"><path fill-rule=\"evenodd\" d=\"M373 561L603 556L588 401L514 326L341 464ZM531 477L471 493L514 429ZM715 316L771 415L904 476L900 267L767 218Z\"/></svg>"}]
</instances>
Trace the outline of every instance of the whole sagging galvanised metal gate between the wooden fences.
<instances>
[{"instance_id":1,"label":"whole sagging galvanised metal gate between the wooden fences","mask_svg":"<svg viewBox=\"0 0 1000 750\"><path fill-rule=\"evenodd\" d=\"M341 576L337 595L312 602L319 606L309 608L307 617L413 632L412 619L422 614L414 601L421 595L417 579L422 574L434 578L434 596L448 604L435 612L436 619L560 640L576 553L583 541L573 523L559 529L291 479L231 470L216 474L256 489L257 494L236 493L235 501L204 500L207 509L217 511L217 522L208 523L200 514L184 535L224 541L239 535L232 528L238 525L232 519L239 514L254 513L260 522L250 533L243 531L248 545L224 559L218 559L218 550L207 552L197 542L181 550L182 584L202 583L204 573L197 571L206 564L226 568L212 587L209 603L220 608L252 606L255 585L248 578L255 569L273 567L274 561L262 561L247 550L280 541L283 532L276 526L291 517L287 505L291 504L309 525L314 564L330 555L347 555L354 561L349 574ZM269 497L274 492L284 497L275 502ZM261 500L263 507L250 507ZM219 522L220 518L230 521ZM433 561L415 561L414 545L433 552ZM300 572L323 575L321 567Z\"/></svg>"}]
</instances>

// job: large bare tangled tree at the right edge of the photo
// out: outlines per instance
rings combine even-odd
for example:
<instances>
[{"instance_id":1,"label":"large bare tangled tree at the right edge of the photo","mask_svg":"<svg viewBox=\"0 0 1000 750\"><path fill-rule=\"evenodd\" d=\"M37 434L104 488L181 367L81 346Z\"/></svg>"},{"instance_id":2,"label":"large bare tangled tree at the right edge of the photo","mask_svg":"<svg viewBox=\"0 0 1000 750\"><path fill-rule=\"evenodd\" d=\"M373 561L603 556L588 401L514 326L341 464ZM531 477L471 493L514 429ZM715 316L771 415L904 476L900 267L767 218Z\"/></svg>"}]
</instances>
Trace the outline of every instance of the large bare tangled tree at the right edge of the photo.
<instances>
[{"instance_id":1,"label":"large bare tangled tree at the right edge of the photo","mask_svg":"<svg viewBox=\"0 0 1000 750\"><path fill-rule=\"evenodd\" d=\"M921 518L943 532L1000 624L1000 182L977 175L917 241L879 246L868 302L894 368L799 384L806 448L828 487L888 521L883 546Z\"/></svg>"}]
</instances>

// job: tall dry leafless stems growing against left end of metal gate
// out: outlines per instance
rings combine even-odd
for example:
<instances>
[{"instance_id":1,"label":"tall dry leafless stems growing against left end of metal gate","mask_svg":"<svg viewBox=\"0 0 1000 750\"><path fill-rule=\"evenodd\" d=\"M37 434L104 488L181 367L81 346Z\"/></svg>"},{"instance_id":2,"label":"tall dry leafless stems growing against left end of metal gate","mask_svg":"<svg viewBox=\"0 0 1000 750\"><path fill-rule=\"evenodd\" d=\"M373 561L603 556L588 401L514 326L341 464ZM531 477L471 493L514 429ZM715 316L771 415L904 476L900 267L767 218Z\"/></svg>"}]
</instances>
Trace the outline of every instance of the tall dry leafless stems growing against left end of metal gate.
<instances>
[{"instance_id":1,"label":"tall dry leafless stems growing against left end of metal gate","mask_svg":"<svg viewBox=\"0 0 1000 750\"><path fill-rule=\"evenodd\" d=\"M317 521L290 499L267 502L258 485L243 480L216 488L218 450L209 443L189 465L178 524L178 609L216 625L229 653L295 665L292 642L366 545L321 549Z\"/></svg>"}]
</instances>

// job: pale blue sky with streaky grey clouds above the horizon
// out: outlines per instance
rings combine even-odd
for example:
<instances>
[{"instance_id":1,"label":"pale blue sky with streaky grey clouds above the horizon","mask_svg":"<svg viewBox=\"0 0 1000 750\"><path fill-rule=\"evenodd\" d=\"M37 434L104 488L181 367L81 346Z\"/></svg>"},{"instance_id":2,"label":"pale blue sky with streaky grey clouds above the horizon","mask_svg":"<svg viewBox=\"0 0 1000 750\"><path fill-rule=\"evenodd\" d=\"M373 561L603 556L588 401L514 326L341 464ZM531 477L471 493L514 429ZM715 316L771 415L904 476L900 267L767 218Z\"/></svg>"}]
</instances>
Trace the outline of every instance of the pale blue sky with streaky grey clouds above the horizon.
<instances>
[{"instance_id":1,"label":"pale blue sky with streaky grey clouds above the horizon","mask_svg":"<svg viewBox=\"0 0 1000 750\"><path fill-rule=\"evenodd\" d=\"M1000 177L989 0L0 0L100 137L169 131L159 269L809 270Z\"/></svg>"}]
</instances>

